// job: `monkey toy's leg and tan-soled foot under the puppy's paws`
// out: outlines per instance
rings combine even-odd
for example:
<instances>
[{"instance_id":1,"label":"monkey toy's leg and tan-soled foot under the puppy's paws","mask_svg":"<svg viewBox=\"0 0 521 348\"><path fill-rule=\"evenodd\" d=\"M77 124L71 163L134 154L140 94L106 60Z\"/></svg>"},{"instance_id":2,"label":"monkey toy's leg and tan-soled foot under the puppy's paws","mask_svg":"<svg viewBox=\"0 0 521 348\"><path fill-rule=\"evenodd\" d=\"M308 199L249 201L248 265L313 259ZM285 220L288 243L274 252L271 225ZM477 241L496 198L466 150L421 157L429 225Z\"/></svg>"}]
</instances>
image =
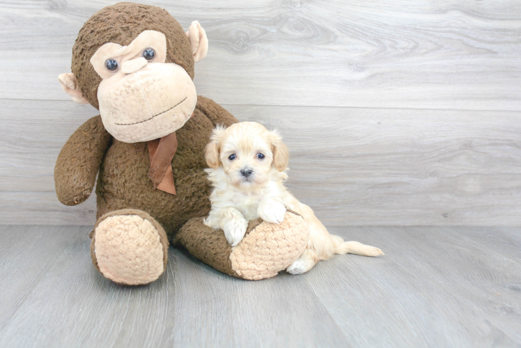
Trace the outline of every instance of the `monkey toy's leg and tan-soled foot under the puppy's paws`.
<instances>
[{"instance_id":1,"label":"monkey toy's leg and tan-soled foot under the puppy's paws","mask_svg":"<svg viewBox=\"0 0 521 348\"><path fill-rule=\"evenodd\" d=\"M293 264L308 239L308 224L302 216L288 210L281 223L249 221L246 235L237 246L228 244L222 230L205 226L203 218L189 220L173 242L230 276L260 280L277 276Z\"/></svg>"}]
</instances>

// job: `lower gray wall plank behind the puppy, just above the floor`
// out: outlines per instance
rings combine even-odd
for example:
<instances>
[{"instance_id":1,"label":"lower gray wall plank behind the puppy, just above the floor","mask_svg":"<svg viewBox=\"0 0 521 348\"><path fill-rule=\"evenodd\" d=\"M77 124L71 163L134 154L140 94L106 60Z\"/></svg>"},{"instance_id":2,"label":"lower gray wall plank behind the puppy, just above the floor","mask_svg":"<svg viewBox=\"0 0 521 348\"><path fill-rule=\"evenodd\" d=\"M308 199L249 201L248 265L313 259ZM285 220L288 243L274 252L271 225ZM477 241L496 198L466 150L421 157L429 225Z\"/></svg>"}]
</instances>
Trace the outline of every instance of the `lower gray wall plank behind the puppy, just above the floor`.
<instances>
[{"instance_id":1,"label":"lower gray wall plank behind the puppy, just above the floor","mask_svg":"<svg viewBox=\"0 0 521 348\"><path fill-rule=\"evenodd\" d=\"M287 185L327 226L521 224L517 111L225 106L279 129L291 152ZM0 100L2 223L95 223L95 197L61 205L52 175L68 136L96 114Z\"/></svg>"}]
</instances>

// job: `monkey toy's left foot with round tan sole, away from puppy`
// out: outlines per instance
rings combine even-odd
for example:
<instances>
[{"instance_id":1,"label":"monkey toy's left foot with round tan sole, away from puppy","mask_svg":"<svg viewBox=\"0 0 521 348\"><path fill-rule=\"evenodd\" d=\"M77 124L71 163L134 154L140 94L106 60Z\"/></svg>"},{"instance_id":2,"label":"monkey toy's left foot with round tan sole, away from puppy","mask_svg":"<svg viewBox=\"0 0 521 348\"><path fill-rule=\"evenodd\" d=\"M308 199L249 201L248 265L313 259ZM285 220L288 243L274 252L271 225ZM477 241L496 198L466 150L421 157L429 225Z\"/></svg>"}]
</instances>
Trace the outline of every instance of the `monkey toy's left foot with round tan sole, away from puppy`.
<instances>
[{"instance_id":1,"label":"monkey toy's left foot with round tan sole, away from puppy","mask_svg":"<svg viewBox=\"0 0 521 348\"><path fill-rule=\"evenodd\" d=\"M114 283L148 284L166 269L166 233L146 212L123 209L104 214L91 238L94 266Z\"/></svg>"}]
</instances>

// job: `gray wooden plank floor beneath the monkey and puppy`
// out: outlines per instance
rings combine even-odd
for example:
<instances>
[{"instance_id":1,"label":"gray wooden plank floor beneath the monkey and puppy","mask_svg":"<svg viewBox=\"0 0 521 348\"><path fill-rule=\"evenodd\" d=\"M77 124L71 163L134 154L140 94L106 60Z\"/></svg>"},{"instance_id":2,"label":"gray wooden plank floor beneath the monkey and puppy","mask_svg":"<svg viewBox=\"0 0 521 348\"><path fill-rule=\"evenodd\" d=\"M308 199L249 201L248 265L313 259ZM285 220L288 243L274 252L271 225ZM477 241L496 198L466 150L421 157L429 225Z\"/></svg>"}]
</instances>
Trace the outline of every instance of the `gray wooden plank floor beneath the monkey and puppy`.
<instances>
[{"instance_id":1,"label":"gray wooden plank floor beneath the monkey and puppy","mask_svg":"<svg viewBox=\"0 0 521 348\"><path fill-rule=\"evenodd\" d=\"M521 228L331 228L381 247L238 280L170 248L115 285L91 226L0 227L0 347L520 347Z\"/></svg>"}]
</instances>

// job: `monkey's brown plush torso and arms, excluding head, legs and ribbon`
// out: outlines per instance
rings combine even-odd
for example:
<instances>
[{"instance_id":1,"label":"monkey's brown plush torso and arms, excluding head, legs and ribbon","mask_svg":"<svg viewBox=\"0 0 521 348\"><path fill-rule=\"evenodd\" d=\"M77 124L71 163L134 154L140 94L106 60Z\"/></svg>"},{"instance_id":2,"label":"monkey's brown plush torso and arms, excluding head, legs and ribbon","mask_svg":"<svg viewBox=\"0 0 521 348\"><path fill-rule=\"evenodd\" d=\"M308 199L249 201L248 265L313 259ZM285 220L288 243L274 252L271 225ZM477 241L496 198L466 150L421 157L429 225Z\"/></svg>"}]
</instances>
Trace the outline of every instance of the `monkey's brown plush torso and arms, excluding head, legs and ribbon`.
<instances>
[{"instance_id":1,"label":"monkey's brown plush torso and arms, excluding head, legs and ribbon","mask_svg":"<svg viewBox=\"0 0 521 348\"><path fill-rule=\"evenodd\" d=\"M171 238L192 217L206 216L210 212L211 188L203 171L204 147L217 123L230 125L237 120L220 106L212 107L213 100L200 96L198 100L194 116L176 132L179 145L172 167L177 196L154 189L148 177L146 143L113 139L100 116L96 116L70 136L56 161L54 180L61 203L77 205L86 200L100 168L96 188L98 218L118 209L139 209L157 219ZM207 115L200 105L216 113Z\"/></svg>"}]
</instances>

